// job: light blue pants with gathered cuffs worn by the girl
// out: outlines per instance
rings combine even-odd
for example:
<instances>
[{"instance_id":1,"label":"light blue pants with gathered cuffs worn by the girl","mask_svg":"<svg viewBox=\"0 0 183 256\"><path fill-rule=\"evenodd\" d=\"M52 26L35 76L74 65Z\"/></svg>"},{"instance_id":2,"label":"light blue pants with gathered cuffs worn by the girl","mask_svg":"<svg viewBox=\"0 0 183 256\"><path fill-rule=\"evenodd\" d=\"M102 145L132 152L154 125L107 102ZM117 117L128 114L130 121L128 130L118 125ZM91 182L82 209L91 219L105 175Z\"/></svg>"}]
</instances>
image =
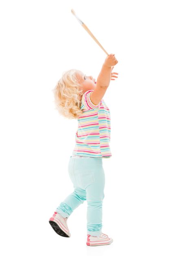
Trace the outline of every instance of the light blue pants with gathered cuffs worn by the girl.
<instances>
[{"instance_id":1,"label":"light blue pants with gathered cuffs worn by the girl","mask_svg":"<svg viewBox=\"0 0 183 256\"><path fill-rule=\"evenodd\" d=\"M104 198L105 173L101 157L72 158L68 172L74 192L61 202L55 211L64 218L87 200L87 234L100 236L102 233L102 201Z\"/></svg>"}]
</instances>

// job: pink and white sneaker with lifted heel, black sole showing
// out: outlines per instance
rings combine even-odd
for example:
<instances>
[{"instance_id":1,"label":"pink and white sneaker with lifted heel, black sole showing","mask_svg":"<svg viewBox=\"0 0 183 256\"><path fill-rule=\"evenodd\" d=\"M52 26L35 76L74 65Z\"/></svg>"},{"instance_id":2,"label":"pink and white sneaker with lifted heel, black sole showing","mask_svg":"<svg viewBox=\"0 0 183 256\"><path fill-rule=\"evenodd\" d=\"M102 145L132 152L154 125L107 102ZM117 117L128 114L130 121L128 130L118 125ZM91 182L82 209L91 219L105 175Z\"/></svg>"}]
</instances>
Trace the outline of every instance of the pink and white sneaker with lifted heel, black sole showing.
<instances>
[{"instance_id":1,"label":"pink and white sneaker with lifted heel, black sole showing","mask_svg":"<svg viewBox=\"0 0 183 256\"><path fill-rule=\"evenodd\" d=\"M53 216L49 219L49 223L57 234L60 236L70 237L71 234L68 229L67 220L68 217L63 218L61 214L54 211Z\"/></svg>"}]
</instances>

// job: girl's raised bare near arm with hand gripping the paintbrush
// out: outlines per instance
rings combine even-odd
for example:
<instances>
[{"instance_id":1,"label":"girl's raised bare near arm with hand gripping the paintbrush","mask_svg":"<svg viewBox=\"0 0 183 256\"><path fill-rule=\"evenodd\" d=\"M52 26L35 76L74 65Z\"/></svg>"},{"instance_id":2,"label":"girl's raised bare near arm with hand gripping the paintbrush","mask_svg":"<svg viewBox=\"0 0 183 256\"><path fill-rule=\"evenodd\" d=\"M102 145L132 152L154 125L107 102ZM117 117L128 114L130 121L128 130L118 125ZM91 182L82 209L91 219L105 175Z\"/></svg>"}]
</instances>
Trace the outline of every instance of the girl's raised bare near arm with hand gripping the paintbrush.
<instances>
[{"instance_id":1,"label":"girl's raised bare near arm with hand gripping the paintbrush","mask_svg":"<svg viewBox=\"0 0 183 256\"><path fill-rule=\"evenodd\" d=\"M116 60L114 54L109 54L105 59L104 64L102 65L102 69L100 74L98 75L96 87L93 92L90 94L91 102L95 105L98 105L100 100L102 100L107 88L109 87L111 80L111 67L116 65L118 60Z\"/></svg>"}]
</instances>

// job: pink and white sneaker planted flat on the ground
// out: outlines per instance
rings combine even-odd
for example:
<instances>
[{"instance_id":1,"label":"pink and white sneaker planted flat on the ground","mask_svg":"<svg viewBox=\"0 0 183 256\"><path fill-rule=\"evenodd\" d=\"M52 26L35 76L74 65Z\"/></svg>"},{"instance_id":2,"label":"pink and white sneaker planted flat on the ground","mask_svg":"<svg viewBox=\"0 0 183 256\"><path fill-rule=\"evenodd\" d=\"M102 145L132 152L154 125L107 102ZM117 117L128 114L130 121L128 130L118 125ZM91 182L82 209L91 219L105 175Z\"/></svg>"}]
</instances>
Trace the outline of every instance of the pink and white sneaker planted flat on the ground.
<instances>
[{"instance_id":1,"label":"pink and white sneaker planted flat on the ground","mask_svg":"<svg viewBox=\"0 0 183 256\"><path fill-rule=\"evenodd\" d=\"M87 235L87 245L96 246L96 245L110 245L113 242L113 239L107 236L106 234L101 234L100 236L91 236Z\"/></svg>"}]
</instances>

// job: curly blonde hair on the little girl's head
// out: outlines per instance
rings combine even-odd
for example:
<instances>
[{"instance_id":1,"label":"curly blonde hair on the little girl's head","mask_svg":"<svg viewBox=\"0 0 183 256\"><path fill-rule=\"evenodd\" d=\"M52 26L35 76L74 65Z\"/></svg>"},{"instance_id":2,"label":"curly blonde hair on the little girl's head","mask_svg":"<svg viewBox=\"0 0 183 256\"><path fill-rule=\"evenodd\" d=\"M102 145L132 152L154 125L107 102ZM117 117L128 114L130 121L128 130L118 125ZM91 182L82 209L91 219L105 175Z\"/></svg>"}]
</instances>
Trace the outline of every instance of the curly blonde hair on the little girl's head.
<instances>
[{"instance_id":1,"label":"curly blonde hair on the little girl's head","mask_svg":"<svg viewBox=\"0 0 183 256\"><path fill-rule=\"evenodd\" d=\"M77 69L64 71L52 90L54 92L55 109L59 111L60 115L69 119L77 119L83 114L80 109L83 89L78 82L77 72Z\"/></svg>"}]
</instances>

